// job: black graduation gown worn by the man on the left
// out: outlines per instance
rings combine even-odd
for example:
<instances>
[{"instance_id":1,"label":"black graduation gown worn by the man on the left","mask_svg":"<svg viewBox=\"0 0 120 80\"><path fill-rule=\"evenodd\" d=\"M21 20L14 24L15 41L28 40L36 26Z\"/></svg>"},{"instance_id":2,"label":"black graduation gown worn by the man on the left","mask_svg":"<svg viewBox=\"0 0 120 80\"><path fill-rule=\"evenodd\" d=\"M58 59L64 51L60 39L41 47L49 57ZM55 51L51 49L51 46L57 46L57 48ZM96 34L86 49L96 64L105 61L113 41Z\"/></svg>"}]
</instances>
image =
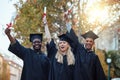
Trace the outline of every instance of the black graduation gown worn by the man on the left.
<instances>
[{"instance_id":1,"label":"black graduation gown worn by the man on the left","mask_svg":"<svg viewBox=\"0 0 120 80\"><path fill-rule=\"evenodd\" d=\"M9 46L9 51L21 58L24 62L21 80L48 80L50 62L42 52L35 52L25 48L16 41Z\"/></svg>"}]
</instances>

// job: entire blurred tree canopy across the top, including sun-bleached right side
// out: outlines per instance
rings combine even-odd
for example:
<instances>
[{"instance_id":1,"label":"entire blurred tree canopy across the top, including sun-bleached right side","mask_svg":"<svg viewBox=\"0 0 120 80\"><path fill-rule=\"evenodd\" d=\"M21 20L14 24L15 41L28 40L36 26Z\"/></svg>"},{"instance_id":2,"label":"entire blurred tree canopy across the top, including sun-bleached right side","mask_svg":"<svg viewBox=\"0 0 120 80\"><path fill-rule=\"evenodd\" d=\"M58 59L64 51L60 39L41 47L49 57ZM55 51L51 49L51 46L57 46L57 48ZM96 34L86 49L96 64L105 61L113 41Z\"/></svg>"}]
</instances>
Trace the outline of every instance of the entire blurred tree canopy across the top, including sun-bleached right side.
<instances>
[{"instance_id":1,"label":"entire blurred tree canopy across the top, including sun-bleached right side","mask_svg":"<svg viewBox=\"0 0 120 80\"><path fill-rule=\"evenodd\" d=\"M66 31L63 13L68 10L71 4L74 4L74 7L70 18L76 33L79 35L88 30L95 30L99 34L103 29L119 20L120 5L119 0L116 1L96 0L91 3L90 0L27 0L23 3L22 0L19 0L19 3L15 4L17 10L17 17L14 21L16 37L22 40L25 46L29 46L30 33L44 33L42 17L45 6L47 7L47 23L51 34ZM99 12L95 13L96 10ZM102 10L107 11L106 14L96 15Z\"/></svg>"}]
</instances>

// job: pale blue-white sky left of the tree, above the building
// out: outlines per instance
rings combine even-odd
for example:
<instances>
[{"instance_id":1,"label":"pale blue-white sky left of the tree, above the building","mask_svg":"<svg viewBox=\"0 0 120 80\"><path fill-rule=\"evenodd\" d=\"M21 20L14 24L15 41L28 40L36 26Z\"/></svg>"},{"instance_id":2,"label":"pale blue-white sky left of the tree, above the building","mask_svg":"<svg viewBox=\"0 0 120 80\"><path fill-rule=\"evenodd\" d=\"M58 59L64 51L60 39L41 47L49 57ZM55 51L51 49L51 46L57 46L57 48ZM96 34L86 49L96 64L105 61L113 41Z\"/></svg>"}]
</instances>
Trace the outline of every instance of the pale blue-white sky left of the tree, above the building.
<instances>
[{"instance_id":1,"label":"pale blue-white sky left of the tree, above the building","mask_svg":"<svg viewBox=\"0 0 120 80\"><path fill-rule=\"evenodd\" d=\"M6 24L10 23L12 16L15 14L16 9L13 6L14 3L17 3L19 0L0 0L0 53L17 63L21 64L21 61L8 51L8 46L10 41L4 33Z\"/></svg>"}]
</instances>

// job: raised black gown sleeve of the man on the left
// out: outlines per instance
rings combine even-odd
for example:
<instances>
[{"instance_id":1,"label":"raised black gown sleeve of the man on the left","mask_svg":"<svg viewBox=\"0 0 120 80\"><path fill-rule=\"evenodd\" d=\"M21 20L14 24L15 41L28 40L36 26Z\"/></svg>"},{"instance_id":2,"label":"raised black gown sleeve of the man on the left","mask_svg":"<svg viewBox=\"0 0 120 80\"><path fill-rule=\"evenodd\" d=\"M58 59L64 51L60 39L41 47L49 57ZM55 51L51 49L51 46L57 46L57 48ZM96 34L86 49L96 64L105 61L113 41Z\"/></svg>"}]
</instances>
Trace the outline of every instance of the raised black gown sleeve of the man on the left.
<instances>
[{"instance_id":1,"label":"raised black gown sleeve of the man on the left","mask_svg":"<svg viewBox=\"0 0 120 80\"><path fill-rule=\"evenodd\" d=\"M24 60L24 57L27 52L27 48L23 47L17 40L16 43L9 46L8 50Z\"/></svg>"}]
</instances>

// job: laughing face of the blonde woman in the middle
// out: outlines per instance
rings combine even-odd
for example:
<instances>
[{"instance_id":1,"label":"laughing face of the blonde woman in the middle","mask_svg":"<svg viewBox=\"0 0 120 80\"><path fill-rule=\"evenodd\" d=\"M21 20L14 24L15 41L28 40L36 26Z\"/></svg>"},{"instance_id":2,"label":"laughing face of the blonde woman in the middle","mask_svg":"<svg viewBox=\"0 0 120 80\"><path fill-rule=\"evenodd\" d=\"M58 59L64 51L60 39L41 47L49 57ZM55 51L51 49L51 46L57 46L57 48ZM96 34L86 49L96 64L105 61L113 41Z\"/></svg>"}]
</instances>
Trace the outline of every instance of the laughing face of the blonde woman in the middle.
<instances>
[{"instance_id":1,"label":"laughing face of the blonde woman in the middle","mask_svg":"<svg viewBox=\"0 0 120 80\"><path fill-rule=\"evenodd\" d=\"M69 48L69 44L67 41L59 41L58 46L62 53L65 53Z\"/></svg>"}]
</instances>

